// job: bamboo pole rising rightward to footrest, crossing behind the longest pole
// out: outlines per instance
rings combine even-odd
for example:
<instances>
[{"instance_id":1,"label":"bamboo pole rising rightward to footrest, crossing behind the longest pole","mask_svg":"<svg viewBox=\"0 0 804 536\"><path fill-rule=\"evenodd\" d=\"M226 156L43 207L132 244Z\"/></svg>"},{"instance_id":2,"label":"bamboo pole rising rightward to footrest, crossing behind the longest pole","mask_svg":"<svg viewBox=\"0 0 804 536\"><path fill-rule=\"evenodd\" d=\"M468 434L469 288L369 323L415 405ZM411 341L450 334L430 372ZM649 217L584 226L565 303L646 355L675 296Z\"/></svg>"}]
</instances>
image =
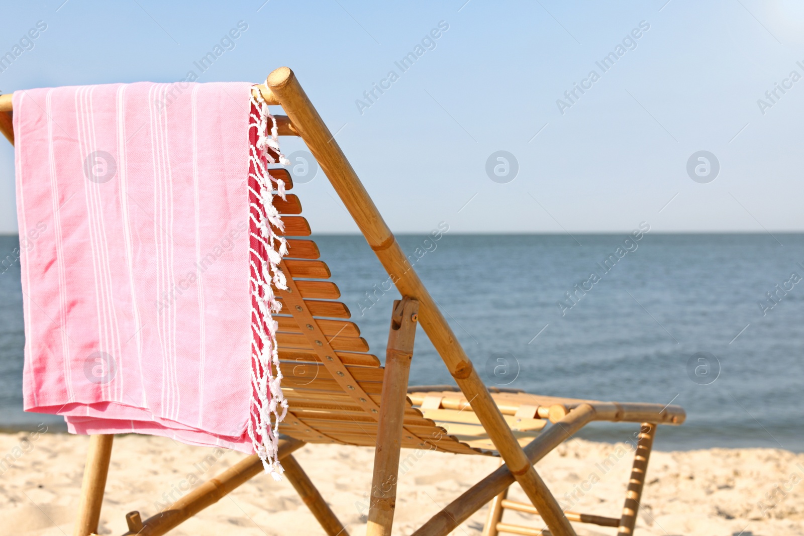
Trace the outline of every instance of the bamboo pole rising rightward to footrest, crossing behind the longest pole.
<instances>
[{"instance_id":1,"label":"bamboo pole rising rightward to footrest, crossing behind the longest pole","mask_svg":"<svg viewBox=\"0 0 804 536\"><path fill-rule=\"evenodd\" d=\"M530 460L531 464L535 464L544 456L547 456L548 452L552 451L553 448L556 448L594 419L595 410L589 404L582 404L572 409L564 419L552 425L548 430L539 434L539 437L527 444L525 453L528 460ZM470 515L491 501L495 495L502 492L503 489L507 489L514 482L514 475L508 470L507 465L503 465L468 489L466 493L450 502L445 509L430 518L412 536L446 536L457 529L457 526L462 522L469 519Z\"/></svg>"}]
</instances>

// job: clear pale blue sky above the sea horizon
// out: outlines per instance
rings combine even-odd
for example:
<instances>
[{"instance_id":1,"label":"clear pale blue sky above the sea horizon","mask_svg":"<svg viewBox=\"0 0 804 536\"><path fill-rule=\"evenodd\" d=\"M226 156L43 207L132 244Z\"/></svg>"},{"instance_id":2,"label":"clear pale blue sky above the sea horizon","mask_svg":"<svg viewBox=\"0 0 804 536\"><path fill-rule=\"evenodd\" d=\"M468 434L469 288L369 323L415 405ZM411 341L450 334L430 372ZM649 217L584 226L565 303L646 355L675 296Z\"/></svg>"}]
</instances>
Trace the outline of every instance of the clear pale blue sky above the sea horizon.
<instances>
[{"instance_id":1,"label":"clear pale blue sky above the sea horizon","mask_svg":"<svg viewBox=\"0 0 804 536\"><path fill-rule=\"evenodd\" d=\"M0 54L38 21L47 29L0 72L0 91L181 80L243 21L199 81L293 68L397 232L442 220L457 232L643 220L655 231L804 231L804 80L790 80L804 76L800 2L62 2L3 7ZM441 21L449 29L402 72L395 62ZM650 28L629 38L642 21ZM609 52L604 72L596 62ZM390 71L398 80L382 82ZM369 103L363 92L381 82L390 88ZM571 101L573 84L588 89ZM775 84L789 88L772 102ZM486 174L498 150L519 163L511 182ZM720 163L712 182L687 174L699 150ZM297 193L314 231L356 231L322 174ZM3 143L0 232L14 231Z\"/></svg>"}]
</instances>

